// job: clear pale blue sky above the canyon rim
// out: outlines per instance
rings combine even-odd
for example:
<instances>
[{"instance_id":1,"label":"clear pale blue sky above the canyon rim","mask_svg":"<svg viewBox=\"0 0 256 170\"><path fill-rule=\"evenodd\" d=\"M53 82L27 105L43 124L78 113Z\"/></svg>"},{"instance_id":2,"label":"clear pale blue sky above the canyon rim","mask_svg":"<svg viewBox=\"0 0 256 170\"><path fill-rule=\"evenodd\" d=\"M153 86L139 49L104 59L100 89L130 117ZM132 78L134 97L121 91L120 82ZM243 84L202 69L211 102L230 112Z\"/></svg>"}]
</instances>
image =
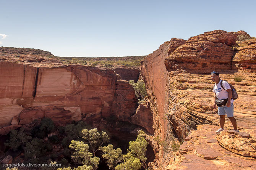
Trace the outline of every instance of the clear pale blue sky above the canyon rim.
<instances>
[{"instance_id":1,"label":"clear pale blue sky above the canyon rim","mask_svg":"<svg viewBox=\"0 0 256 170\"><path fill-rule=\"evenodd\" d=\"M173 37L216 29L255 37L255 8L255 0L0 0L0 46L55 56L148 55Z\"/></svg>"}]
</instances>

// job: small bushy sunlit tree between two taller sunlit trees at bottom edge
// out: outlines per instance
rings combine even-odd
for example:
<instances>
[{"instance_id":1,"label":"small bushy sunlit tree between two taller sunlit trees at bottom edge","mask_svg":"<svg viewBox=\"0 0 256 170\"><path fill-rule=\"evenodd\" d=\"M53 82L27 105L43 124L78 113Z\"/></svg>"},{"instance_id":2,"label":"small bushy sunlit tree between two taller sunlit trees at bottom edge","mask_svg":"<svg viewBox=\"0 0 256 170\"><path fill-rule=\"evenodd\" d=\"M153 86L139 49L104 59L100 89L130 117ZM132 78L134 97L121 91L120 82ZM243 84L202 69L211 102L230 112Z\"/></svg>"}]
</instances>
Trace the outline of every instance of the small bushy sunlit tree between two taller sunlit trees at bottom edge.
<instances>
[{"instance_id":1,"label":"small bushy sunlit tree between two taller sunlit trees at bottom edge","mask_svg":"<svg viewBox=\"0 0 256 170\"><path fill-rule=\"evenodd\" d=\"M120 148L113 149L113 145L99 147L102 152L102 158L106 160L110 169L114 169L118 162L121 162L122 150Z\"/></svg>"}]
</instances>

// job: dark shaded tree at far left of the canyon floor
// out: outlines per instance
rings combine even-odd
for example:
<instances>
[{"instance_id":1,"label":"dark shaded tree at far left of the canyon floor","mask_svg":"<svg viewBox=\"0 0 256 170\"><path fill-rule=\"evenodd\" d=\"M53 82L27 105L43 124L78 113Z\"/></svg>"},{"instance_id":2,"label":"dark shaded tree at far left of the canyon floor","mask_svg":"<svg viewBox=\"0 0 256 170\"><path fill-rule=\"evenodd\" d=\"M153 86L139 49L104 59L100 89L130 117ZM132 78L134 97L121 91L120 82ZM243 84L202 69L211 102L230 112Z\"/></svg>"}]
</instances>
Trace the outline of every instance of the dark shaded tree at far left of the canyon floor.
<instances>
[{"instance_id":1,"label":"dark shaded tree at far left of the canyon floor","mask_svg":"<svg viewBox=\"0 0 256 170\"><path fill-rule=\"evenodd\" d=\"M6 141L5 145L9 146L13 151L17 151L19 146L28 143L31 139L32 137L21 127L19 130L11 130L10 139Z\"/></svg>"}]
</instances>

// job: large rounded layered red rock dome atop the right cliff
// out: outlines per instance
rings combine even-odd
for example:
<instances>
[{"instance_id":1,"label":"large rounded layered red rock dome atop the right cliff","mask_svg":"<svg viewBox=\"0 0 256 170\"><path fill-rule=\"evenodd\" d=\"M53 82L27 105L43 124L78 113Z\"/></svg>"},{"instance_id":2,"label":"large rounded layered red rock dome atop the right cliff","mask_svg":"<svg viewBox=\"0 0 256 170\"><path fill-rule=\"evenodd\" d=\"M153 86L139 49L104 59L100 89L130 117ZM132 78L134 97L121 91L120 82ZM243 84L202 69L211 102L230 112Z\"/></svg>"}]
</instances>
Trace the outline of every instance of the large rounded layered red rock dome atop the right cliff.
<instances>
[{"instance_id":1,"label":"large rounded layered red rock dome atop the right cliff","mask_svg":"<svg viewBox=\"0 0 256 170\"><path fill-rule=\"evenodd\" d=\"M185 69L205 72L212 69L230 69L234 55L235 38L223 30L205 32L189 38L169 54L165 60L168 70Z\"/></svg>"}]
</instances>

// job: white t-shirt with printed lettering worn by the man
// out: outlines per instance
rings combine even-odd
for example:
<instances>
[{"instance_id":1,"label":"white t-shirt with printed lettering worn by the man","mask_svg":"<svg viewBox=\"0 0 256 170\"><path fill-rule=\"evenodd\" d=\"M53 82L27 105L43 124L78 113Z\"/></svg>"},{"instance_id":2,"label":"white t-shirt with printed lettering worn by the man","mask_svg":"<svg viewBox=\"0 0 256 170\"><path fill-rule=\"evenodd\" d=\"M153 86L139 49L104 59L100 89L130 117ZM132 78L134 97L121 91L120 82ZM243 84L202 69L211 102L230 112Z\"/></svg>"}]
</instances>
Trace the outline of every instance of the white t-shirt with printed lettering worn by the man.
<instances>
[{"instance_id":1,"label":"white t-shirt with printed lettering worn by the man","mask_svg":"<svg viewBox=\"0 0 256 170\"><path fill-rule=\"evenodd\" d=\"M220 80L221 82L221 80ZM227 99L228 98L228 92L226 91L227 89L230 89L230 85L228 84L228 82L226 81L222 81L222 85L223 87L226 89L223 89L220 85L220 82L213 87L213 92L216 93L216 96L218 99L223 100L223 99ZM233 103L233 99L231 98L230 103Z\"/></svg>"}]
</instances>

